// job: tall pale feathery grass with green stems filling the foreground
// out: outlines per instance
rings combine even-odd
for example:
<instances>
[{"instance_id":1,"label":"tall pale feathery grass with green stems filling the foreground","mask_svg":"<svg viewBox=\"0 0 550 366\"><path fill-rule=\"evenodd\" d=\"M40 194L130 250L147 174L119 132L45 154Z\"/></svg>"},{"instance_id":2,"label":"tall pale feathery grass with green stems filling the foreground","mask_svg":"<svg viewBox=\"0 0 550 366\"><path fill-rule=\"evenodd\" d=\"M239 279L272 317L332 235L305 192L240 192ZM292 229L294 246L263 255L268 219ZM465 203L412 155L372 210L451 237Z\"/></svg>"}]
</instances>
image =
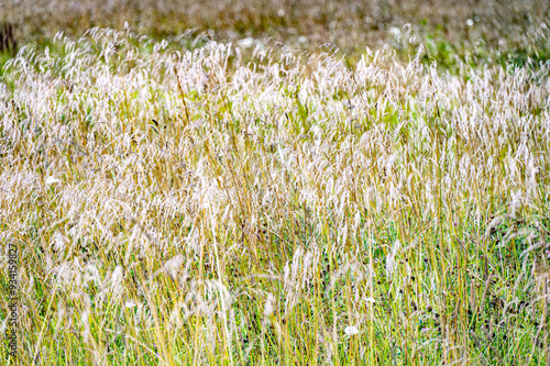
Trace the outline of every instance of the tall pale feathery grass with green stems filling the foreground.
<instances>
[{"instance_id":1,"label":"tall pale feathery grass with green stems filling the foreground","mask_svg":"<svg viewBox=\"0 0 550 366\"><path fill-rule=\"evenodd\" d=\"M548 365L550 31L418 32L0 55L1 363Z\"/></svg>"}]
</instances>

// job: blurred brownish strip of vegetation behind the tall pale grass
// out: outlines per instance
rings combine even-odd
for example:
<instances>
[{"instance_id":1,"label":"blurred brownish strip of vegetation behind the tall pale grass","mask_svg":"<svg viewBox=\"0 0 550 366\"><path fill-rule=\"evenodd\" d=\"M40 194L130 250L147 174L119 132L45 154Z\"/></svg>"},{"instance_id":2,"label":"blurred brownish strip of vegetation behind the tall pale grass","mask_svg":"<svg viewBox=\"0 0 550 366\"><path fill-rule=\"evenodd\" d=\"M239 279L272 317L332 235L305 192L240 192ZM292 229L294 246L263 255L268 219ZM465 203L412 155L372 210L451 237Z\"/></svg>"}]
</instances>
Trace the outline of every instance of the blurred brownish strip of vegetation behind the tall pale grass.
<instances>
[{"instance_id":1,"label":"blurred brownish strip of vegetation behind the tall pale grass","mask_svg":"<svg viewBox=\"0 0 550 366\"><path fill-rule=\"evenodd\" d=\"M78 37L92 26L132 30L174 41L187 32L218 42L270 38L309 52L337 44L353 63L365 47L389 44L410 59L419 44L427 58L453 70L469 63L534 64L550 57L547 0L4 0L3 47L47 45L62 30ZM6 30L2 32L6 37ZM0 47L1 48L1 47Z\"/></svg>"}]
</instances>

